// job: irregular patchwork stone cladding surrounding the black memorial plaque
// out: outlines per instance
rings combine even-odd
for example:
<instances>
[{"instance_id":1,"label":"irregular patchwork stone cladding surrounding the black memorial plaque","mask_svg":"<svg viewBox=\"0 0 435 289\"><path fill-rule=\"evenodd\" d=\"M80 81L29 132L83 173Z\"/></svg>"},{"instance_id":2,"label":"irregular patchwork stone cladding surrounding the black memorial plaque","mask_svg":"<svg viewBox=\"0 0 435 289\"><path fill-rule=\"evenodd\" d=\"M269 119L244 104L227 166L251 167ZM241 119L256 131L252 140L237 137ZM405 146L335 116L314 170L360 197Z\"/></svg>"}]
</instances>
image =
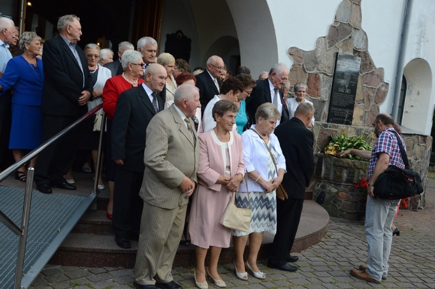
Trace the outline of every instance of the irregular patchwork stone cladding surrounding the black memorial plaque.
<instances>
[{"instance_id":1,"label":"irregular patchwork stone cladding surrounding the black memorial plaque","mask_svg":"<svg viewBox=\"0 0 435 289\"><path fill-rule=\"evenodd\" d=\"M313 102L318 121L327 121L336 52L361 58L352 125L370 125L379 114L389 84L383 82L383 68L377 68L369 54L368 38L361 28L359 1L340 3L328 34L317 39L315 49L288 48L294 61L288 80L292 86L307 84L306 98Z\"/></svg>"}]
</instances>

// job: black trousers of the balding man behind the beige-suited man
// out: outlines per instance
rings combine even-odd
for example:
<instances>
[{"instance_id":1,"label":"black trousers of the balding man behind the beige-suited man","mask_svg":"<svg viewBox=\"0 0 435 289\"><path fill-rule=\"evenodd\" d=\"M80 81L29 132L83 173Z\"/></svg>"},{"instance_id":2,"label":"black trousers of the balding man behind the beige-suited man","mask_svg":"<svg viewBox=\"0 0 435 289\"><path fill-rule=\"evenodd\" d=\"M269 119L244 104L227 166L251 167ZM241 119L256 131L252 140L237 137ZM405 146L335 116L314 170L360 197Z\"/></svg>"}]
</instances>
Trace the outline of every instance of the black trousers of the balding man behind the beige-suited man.
<instances>
[{"instance_id":1,"label":"black trousers of the balding man behind the beige-suited man","mask_svg":"<svg viewBox=\"0 0 435 289\"><path fill-rule=\"evenodd\" d=\"M118 238L138 237L143 200L139 197L143 172L124 170L117 165L113 190L112 225Z\"/></svg>"}]
</instances>

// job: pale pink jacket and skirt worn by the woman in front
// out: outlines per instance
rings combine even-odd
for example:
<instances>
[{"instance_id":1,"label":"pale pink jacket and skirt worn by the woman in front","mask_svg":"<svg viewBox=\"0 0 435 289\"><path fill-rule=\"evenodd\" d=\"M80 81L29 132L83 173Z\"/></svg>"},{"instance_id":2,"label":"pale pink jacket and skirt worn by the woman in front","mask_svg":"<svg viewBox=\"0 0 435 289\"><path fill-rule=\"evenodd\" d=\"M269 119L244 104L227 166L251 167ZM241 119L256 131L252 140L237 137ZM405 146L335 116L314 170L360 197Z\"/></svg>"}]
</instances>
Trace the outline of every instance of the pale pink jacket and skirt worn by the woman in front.
<instances>
[{"instance_id":1,"label":"pale pink jacket and skirt worn by the woman in front","mask_svg":"<svg viewBox=\"0 0 435 289\"><path fill-rule=\"evenodd\" d=\"M230 246L231 229L222 226L219 221L231 194L225 185L216 181L224 174L245 174L241 138L232 132L230 135L228 143L220 142L213 130L198 137L198 191L192 195L187 230L191 243L201 248ZM231 201L234 202L234 195Z\"/></svg>"}]
</instances>

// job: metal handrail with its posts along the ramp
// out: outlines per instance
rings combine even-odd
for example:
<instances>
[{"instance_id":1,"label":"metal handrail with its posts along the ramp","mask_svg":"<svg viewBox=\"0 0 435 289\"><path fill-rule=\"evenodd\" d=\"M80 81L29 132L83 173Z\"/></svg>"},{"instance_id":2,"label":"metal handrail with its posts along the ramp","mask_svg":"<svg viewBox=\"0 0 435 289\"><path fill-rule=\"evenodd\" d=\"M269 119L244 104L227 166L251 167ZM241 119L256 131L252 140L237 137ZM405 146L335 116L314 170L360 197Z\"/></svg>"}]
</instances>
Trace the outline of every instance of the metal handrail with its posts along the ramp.
<instances>
[{"instance_id":1,"label":"metal handrail with its posts along the ramp","mask_svg":"<svg viewBox=\"0 0 435 289\"><path fill-rule=\"evenodd\" d=\"M91 117L94 113L98 112L100 109L103 108L103 104L99 104L92 110L90 110L88 113L86 113L84 116L80 117L78 120L76 120L74 123L71 123L69 126L64 128L61 132L59 132L57 135L53 136L51 139L47 140L43 144L41 144L39 147L35 148L31 152L29 152L27 155L23 156L19 161L11 165L9 168L4 170L0 173L0 182L2 182L4 179L6 179L8 176L13 174L16 170L18 170L20 167L24 166L25 164L32 161L32 159L38 155L42 150L46 149L48 146L50 146L55 141L62 138L65 134L67 134L71 129ZM104 111L102 112L102 118L103 121L101 122L100 127L100 140L98 144L98 157L96 161L95 166L95 178L93 183L93 189L91 194L98 195L98 180L100 178L100 167L101 167L101 160L102 160L102 143L103 143L103 132L104 128L106 127L106 117ZM6 226L11 229L15 234L19 235L19 244L18 244L18 254L17 254L17 266L15 270L15 281L14 281L14 288L15 289L23 289L21 286L21 280L22 280L22 270L24 265L24 257L26 253L26 243L27 243L27 231L28 231L28 224L30 219L30 208L31 208L31 200L32 200L32 190L33 190L33 177L34 177L34 168L31 166L27 170L27 180L26 180L26 189L25 189L25 196L23 200L23 209L22 209L22 218L21 218L21 227L18 227L8 216L6 216L2 210L0 210L0 221L3 221ZM96 205L95 205L96 206Z\"/></svg>"}]
</instances>

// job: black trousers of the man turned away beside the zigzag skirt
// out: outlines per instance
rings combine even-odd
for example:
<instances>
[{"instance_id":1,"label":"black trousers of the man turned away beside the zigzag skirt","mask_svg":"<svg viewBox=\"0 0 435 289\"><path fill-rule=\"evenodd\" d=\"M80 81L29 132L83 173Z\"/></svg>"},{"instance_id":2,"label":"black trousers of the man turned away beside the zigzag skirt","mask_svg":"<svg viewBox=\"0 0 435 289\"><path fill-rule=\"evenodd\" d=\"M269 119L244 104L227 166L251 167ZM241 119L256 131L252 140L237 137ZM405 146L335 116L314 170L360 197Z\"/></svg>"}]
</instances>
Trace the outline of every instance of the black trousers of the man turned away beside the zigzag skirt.
<instances>
[{"instance_id":1,"label":"black trousers of the man turned away beside the zigzag skirt","mask_svg":"<svg viewBox=\"0 0 435 289\"><path fill-rule=\"evenodd\" d=\"M282 266L286 264L286 257L290 254L301 220L303 199L288 198L277 202L277 225L268 264Z\"/></svg>"}]
</instances>

